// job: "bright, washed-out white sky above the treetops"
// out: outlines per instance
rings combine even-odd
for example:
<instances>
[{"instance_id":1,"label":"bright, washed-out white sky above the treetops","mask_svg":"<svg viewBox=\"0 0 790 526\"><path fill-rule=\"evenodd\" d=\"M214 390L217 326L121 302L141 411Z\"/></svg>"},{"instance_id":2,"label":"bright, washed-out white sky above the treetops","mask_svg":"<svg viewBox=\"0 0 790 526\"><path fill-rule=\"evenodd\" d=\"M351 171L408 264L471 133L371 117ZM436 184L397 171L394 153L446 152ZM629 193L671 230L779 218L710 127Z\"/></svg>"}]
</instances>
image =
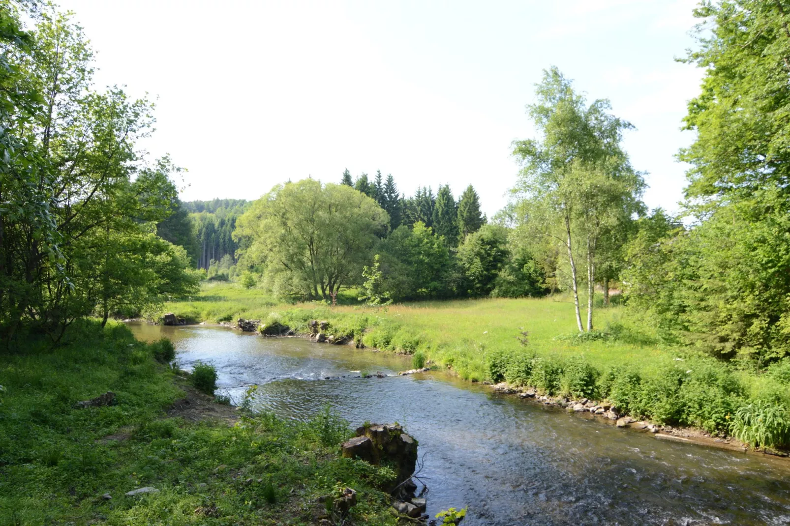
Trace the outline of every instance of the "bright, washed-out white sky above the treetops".
<instances>
[{"instance_id":1,"label":"bright, washed-out white sky above the treetops","mask_svg":"<svg viewBox=\"0 0 790 526\"><path fill-rule=\"evenodd\" d=\"M472 184L484 212L506 205L511 142L557 66L636 130L644 200L678 210L687 100L702 70L694 0L201 2L61 0L96 50L97 88L156 100L141 146L185 167L182 200L256 199L344 169L392 174L401 192Z\"/></svg>"}]
</instances>

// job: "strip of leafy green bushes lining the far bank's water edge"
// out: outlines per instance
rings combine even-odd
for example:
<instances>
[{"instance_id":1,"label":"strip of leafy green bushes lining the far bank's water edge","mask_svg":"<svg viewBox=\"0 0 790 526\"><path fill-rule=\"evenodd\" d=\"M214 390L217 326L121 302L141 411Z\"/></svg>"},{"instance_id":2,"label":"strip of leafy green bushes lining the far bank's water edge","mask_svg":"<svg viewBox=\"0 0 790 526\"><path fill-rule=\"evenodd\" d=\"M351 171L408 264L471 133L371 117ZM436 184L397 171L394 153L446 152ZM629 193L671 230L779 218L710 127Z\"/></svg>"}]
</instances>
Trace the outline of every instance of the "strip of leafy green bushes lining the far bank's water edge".
<instances>
[{"instance_id":1,"label":"strip of leafy green bushes lining the far bank's water edge","mask_svg":"<svg viewBox=\"0 0 790 526\"><path fill-rule=\"evenodd\" d=\"M264 334L299 334L319 342L408 354L419 362L415 368L436 363L467 378L461 370L466 359L461 351L437 346L427 333L380 311L295 308L271 313L256 326ZM504 382L506 389L520 393L534 389L539 397L568 403L600 400L599 405L615 408L618 419L645 420L665 430L686 427L673 433L735 439L766 453L784 455L790 446L790 359L764 370L739 370L719 359L676 350L660 366L641 366L638 358L632 358L606 367L589 363L581 354L565 358L538 354L523 335L517 338L521 346L516 349L473 349L485 371L483 378L472 381Z\"/></svg>"}]
</instances>

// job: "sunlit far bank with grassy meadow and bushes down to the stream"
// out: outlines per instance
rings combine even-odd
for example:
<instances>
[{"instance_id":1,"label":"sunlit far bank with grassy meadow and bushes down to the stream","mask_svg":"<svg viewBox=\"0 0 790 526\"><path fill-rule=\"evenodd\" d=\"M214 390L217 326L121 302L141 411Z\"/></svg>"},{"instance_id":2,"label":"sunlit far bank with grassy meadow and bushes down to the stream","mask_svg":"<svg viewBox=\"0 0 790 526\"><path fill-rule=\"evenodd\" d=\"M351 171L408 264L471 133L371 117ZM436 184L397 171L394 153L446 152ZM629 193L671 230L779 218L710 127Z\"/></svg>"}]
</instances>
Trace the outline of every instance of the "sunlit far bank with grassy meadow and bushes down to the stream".
<instances>
[{"instance_id":1,"label":"sunlit far bank with grassy meadow and bushes down to the stream","mask_svg":"<svg viewBox=\"0 0 790 526\"><path fill-rule=\"evenodd\" d=\"M735 436L752 446L790 445L790 362L759 370L668 348L618 306L597 311L600 330L592 335L575 331L573 304L562 297L378 308L277 305L260 291L223 284L167 309L190 321L245 317L299 333L310 333L310 320L326 320L327 335L337 340L422 356L469 381L609 400L635 419Z\"/></svg>"}]
</instances>

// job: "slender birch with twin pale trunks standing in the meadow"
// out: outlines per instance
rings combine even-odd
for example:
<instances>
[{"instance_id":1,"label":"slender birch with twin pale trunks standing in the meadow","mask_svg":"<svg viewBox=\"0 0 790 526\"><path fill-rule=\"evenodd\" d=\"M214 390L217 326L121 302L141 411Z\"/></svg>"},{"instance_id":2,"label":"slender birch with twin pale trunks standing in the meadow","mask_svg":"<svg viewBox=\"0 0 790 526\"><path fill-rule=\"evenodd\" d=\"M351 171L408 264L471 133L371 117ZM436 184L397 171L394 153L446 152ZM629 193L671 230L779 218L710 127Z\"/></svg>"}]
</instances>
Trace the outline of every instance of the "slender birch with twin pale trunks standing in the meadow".
<instances>
[{"instance_id":1,"label":"slender birch with twin pale trunks standing in the meadow","mask_svg":"<svg viewBox=\"0 0 790 526\"><path fill-rule=\"evenodd\" d=\"M579 305L579 259L586 263L587 330L592 330L596 257L604 233L630 221L641 209L641 174L630 166L620 143L633 126L608 113L608 100L589 106L557 68L544 71L536 103L527 107L540 137L513 142L522 163L514 189L527 227L559 243L567 254L576 322L584 330ZM581 245L581 246L577 246Z\"/></svg>"}]
</instances>

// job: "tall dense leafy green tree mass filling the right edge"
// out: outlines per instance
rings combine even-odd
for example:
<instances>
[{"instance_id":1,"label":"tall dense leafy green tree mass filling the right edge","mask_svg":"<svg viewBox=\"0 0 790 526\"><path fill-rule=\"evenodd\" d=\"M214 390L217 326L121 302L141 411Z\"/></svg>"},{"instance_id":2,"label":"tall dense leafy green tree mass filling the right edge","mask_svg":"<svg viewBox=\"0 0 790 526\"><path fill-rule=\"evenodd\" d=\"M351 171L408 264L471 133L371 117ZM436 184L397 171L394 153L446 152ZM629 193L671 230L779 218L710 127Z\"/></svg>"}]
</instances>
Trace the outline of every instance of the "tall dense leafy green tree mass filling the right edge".
<instances>
[{"instance_id":1,"label":"tall dense leafy green tree mass filling the right edge","mask_svg":"<svg viewBox=\"0 0 790 526\"><path fill-rule=\"evenodd\" d=\"M630 303L664 338L721 358L790 354L788 14L786 0L695 10L705 23L687 62L705 78L685 118L696 138L680 158L692 165L696 221L652 244L641 230L629 250Z\"/></svg>"}]
</instances>

